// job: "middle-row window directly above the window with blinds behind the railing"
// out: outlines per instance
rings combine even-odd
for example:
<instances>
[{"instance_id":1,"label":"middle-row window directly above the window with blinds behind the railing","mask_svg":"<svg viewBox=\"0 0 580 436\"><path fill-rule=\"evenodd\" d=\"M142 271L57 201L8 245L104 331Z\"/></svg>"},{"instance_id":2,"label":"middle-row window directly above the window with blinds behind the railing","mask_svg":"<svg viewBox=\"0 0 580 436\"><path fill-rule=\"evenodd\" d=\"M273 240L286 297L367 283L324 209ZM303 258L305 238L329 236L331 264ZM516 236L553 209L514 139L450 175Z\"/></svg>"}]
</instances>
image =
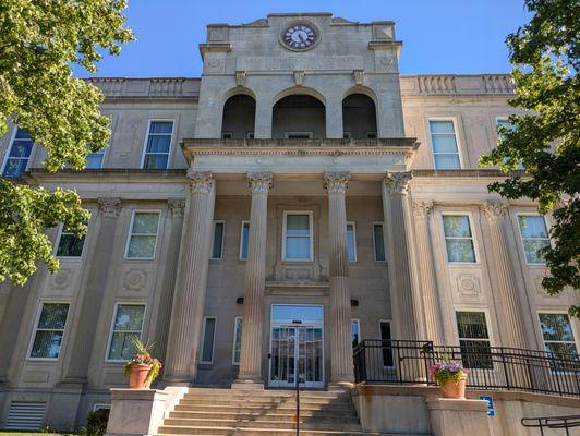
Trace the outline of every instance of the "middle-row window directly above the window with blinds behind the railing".
<instances>
[{"instance_id":1,"label":"middle-row window directly above the window with blinds behind the railing","mask_svg":"<svg viewBox=\"0 0 580 436\"><path fill-rule=\"evenodd\" d=\"M468 215L444 215L443 231L448 262L475 262L473 235Z\"/></svg>"}]
</instances>

